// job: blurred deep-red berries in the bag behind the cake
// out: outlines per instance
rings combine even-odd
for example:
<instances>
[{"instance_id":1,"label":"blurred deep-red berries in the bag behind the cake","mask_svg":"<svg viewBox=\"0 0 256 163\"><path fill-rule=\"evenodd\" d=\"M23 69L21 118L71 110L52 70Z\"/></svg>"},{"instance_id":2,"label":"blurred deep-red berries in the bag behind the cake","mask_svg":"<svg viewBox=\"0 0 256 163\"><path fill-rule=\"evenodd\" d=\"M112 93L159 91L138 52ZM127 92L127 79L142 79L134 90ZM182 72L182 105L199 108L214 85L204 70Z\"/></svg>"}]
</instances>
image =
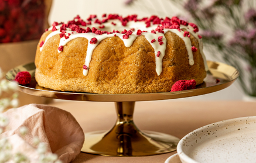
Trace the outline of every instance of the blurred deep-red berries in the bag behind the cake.
<instances>
[{"instance_id":1,"label":"blurred deep-red berries in the bag behind the cake","mask_svg":"<svg viewBox=\"0 0 256 163\"><path fill-rule=\"evenodd\" d=\"M0 43L39 39L45 30L44 0L0 1Z\"/></svg>"}]
</instances>

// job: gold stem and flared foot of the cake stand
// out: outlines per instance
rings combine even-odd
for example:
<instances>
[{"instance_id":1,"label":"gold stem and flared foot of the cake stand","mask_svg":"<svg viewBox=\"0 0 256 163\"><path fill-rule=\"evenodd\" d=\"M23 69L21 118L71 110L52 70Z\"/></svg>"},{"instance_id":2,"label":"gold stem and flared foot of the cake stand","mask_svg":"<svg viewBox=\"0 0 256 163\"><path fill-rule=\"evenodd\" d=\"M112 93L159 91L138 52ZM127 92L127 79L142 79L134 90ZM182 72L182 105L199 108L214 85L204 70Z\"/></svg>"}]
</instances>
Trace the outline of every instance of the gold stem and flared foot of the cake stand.
<instances>
[{"instance_id":1,"label":"gold stem and flared foot of the cake stand","mask_svg":"<svg viewBox=\"0 0 256 163\"><path fill-rule=\"evenodd\" d=\"M134 124L135 102L115 102L117 123L110 131L85 133L81 151L106 156L145 156L176 150L179 138L155 131L140 131Z\"/></svg>"}]
</instances>

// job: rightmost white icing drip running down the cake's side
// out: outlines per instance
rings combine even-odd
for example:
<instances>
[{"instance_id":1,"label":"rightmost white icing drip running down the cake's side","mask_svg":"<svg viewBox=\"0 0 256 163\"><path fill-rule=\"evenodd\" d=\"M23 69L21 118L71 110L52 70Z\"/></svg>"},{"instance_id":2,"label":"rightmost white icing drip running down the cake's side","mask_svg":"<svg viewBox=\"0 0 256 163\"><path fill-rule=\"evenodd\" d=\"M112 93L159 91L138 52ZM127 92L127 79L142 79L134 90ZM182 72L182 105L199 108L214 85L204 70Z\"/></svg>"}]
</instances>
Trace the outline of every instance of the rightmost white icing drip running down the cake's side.
<instances>
[{"instance_id":1,"label":"rightmost white icing drip running down the cake's side","mask_svg":"<svg viewBox=\"0 0 256 163\"><path fill-rule=\"evenodd\" d=\"M205 55L204 55L204 53L203 53L203 41L202 41L202 39L199 38L199 36L198 36L199 34L196 33L196 32L194 32L194 31L193 31L194 28L193 28L192 26L190 26L190 25L188 25L188 26L180 25L180 29L185 29L185 30L187 30L190 34L192 34L194 37L196 37L197 41L199 42L199 50L200 50L200 53L201 53L201 55L202 55L202 57L203 57L204 70L205 70L205 71L208 71L209 68L208 68L208 65L207 65L206 57L205 57Z\"/></svg>"}]
</instances>

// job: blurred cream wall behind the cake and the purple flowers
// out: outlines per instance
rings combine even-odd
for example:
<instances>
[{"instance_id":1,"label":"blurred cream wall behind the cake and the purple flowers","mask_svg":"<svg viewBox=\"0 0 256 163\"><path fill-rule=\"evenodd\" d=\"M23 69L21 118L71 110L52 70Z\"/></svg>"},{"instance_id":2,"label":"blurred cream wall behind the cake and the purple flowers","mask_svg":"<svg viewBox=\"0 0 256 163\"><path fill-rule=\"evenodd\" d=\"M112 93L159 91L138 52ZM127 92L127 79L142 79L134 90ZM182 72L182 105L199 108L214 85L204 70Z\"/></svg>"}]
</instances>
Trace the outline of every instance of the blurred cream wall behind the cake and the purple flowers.
<instances>
[{"instance_id":1,"label":"blurred cream wall behind the cake and the purple flowers","mask_svg":"<svg viewBox=\"0 0 256 163\"><path fill-rule=\"evenodd\" d=\"M67 22L67 20L73 19L76 15L80 15L83 19L88 18L91 14L101 16L103 13L118 13L124 16L137 14L140 18L149 15L158 15L165 18L165 16L171 17L185 12L176 8L168 0L158 0L158 3L154 4L150 4L152 1L141 1L148 3L149 8L145 8L141 5L131 8L129 6L125 6L124 0L54 0L49 15L49 24L52 25L54 21ZM152 5L156 6L152 7ZM163 11L156 11L154 8L161 8ZM211 57L206 50L204 50L204 53L206 54L207 60L216 61L216 59ZM238 84L235 82L235 84L219 92L178 100L239 100L242 98L243 91L240 90Z\"/></svg>"}]
</instances>

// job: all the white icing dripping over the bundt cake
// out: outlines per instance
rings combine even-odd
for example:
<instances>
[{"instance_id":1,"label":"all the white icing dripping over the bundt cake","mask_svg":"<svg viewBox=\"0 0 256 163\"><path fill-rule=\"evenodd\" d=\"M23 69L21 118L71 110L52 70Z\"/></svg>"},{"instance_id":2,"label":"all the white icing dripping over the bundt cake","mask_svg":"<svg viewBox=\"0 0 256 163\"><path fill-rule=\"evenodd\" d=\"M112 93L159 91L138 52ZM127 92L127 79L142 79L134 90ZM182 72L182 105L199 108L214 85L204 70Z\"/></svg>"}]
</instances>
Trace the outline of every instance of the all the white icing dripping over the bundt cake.
<instances>
[{"instance_id":1,"label":"all the white icing dripping over the bundt cake","mask_svg":"<svg viewBox=\"0 0 256 163\"><path fill-rule=\"evenodd\" d=\"M113 25L112 22L115 24ZM104 28L99 28L100 26L102 25L99 25L99 24L94 24L94 25L87 25L86 27L96 27L97 29L99 30L106 30L106 31L111 31L111 29L115 29L115 30L119 30L120 32L122 30L124 30L125 28L127 30L129 30L129 27L130 28L134 28L135 32L132 33L131 35L129 35L129 38L128 39L123 39L122 36L124 34L122 33L112 33L112 34L101 34L101 35L97 35L95 33L77 33L75 31L71 31L71 29L67 28L66 30L66 36L68 36L67 34L70 33L70 36L68 39L66 39L65 37L62 37L60 39L60 43L59 43L59 47L60 46L65 46L69 41L73 40L73 39L76 39L78 37L84 37L88 40L88 47L87 47L87 54L86 54L86 61L85 61L85 64L87 66L87 70L83 70L83 74L86 76L88 74L88 69L89 69L89 65L90 65L90 62L91 62L91 57L92 57L92 54L93 54L93 51L94 51L94 48L100 43L100 41L106 39L107 37L114 37L114 36L117 36L117 37L120 37L120 39L122 39L122 41L124 41L124 45L125 47L130 47L132 46L132 43L134 42L134 40L136 39L136 37L138 37L136 35L136 31L138 29L141 29L141 30L146 30L148 31L148 33L146 32L143 32L142 35L145 36L145 39L149 41L149 43L151 44L151 46L153 47L153 49L155 50L155 62L156 62L156 73L158 75L161 74L162 72L162 60L163 60L163 57L165 56L165 50L166 50L166 38L164 36L164 33L170 31L170 32L173 32L175 34L177 34L185 43L185 46L186 46L186 50L187 50L187 54L188 54L188 58L189 58L189 64L190 65L193 65L194 64L194 60L193 60L193 53L192 53L192 43L189 39L189 37L184 37L183 34L184 32L183 31L180 31L178 29L163 29L164 33L159 33L159 32L156 32L156 34L153 34L151 33L151 30L155 30L156 27L158 25L151 25L150 27L145 27L145 22L134 22L134 21L129 21L127 23L127 26L122 26L120 20L108 20L108 22L105 22L103 23L104 25ZM57 25L56 26L56 31L50 33L47 37L46 37L46 40L45 40L45 43L47 40L50 39L50 37L56 35L56 34L60 34L60 27L62 25ZM83 28L86 28L85 26L80 26L80 27L83 27ZM192 26L183 26L183 25L180 25L180 29L186 29L187 31L190 32L190 34L192 34L194 37L196 37L196 39L199 41L199 48L200 48L200 53L202 54L202 57L203 57L203 60L204 60L204 67L205 67L205 70L207 71L208 70L208 67L207 67L207 64L206 64L206 59L205 59L205 56L203 54L203 44L202 44L202 39L199 39L198 37L198 34L193 32L193 27ZM52 30L52 27L49 28L49 30ZM163 44L160 45L159 44L159 41L158 41L158 37L159 36L162 36L162 42ZM97 39L97 43L95 44L90 44L90 40L95 37ZM151 41L155 39L155 42L151 43ZM40 47L40 51L43 50L43 47L45 45L45 43L43 44L42 47ZM59 51L57 50L59 53L61 53L62 51ZM158 51L160 51L160 56L158 57L157 54L158 54Z\"/></svg>"}]
</instances>

